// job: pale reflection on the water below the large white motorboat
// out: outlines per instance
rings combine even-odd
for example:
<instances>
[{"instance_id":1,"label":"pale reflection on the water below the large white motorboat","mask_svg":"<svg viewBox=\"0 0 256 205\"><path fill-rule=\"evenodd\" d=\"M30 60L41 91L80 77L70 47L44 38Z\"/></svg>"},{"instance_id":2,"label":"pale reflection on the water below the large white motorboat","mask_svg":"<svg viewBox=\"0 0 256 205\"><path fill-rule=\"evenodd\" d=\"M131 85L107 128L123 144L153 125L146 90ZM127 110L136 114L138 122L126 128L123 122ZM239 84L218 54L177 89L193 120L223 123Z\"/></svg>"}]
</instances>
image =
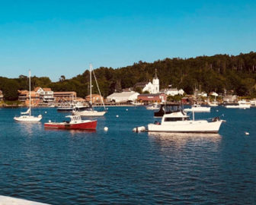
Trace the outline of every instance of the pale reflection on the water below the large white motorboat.
<instances>
[{"instance_id":1,"label":"pale reflection on the water below the large white motorboat","mask_svg":"<svg viewBox=\"0 0 256 205\"><path fill-rule=\"evenodd\" d=\"M167 132L149 132L148 136L158 144L164 146L170 145L174 147L184 147L187 143L203 144L214 143L219 144L222 136L220 134L202 134L202 133L167 133Z\"/></svg>"}]
</instances>

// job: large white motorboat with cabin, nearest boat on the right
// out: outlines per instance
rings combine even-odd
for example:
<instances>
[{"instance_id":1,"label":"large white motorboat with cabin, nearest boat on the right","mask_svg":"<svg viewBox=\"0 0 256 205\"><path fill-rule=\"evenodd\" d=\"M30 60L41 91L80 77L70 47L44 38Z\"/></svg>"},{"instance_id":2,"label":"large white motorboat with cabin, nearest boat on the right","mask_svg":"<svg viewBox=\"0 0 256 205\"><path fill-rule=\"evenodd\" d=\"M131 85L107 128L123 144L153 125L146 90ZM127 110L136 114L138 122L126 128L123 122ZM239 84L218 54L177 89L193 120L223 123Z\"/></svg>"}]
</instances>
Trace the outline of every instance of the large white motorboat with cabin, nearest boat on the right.
<instances>
[{"instance_id":1,"label":"large white motorboat with cabin, nearest boat on the right","mask_svg":"<svg viewBox=\"0 0 256 205\"><path fill-rule=\"evenodd\" d=\"M162 122L148 125L152 132L182 132L182 133L218 133L223 120L213 118L212 121L190 120L189 116L181 111L165 114Z\"/></svg>"}]
</instances>

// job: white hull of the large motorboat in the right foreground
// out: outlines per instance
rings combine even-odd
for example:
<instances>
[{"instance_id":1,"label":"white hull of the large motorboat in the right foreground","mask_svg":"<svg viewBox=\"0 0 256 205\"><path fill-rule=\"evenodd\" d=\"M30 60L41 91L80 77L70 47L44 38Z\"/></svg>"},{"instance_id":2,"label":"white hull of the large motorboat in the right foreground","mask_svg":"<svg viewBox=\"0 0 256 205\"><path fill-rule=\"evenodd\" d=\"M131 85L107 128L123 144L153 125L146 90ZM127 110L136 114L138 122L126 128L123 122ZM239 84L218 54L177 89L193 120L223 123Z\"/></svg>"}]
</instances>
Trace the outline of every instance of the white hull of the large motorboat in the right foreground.
<instances>
[{"instance_id":1,"label":"white hull of the large motorboat in the right foreground","mask_svg":"<svg viewBox=\"0 0 256 205\"><path fill-rule=\"evenodd\" d=\"M168 125L149 124L148 130L154 132L184 132L184 133L218 133L222 120L208 122L199 121L173 121Z\"/></svg>"}]
</instances>

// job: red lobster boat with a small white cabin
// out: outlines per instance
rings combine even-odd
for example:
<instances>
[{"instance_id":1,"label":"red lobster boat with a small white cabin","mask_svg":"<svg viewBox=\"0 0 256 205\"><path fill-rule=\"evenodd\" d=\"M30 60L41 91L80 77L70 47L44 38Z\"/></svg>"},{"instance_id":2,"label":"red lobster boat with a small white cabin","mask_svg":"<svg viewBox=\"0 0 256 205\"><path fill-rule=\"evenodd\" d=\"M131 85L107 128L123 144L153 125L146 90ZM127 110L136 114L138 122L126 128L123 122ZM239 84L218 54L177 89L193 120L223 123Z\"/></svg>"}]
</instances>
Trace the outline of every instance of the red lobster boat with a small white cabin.
<instances>
[{"instance_id":1,"label":"red lobster boat with a small white cabin","mask_svg":"<svg viewBox=\"0 0 256 205\"><path fill-rule=\"evenodd\" d=\"M68 115L66 118L70 118L70 121L63 122L46 122L44 128L56 128L67 130L96 130L97 120L82 120L80 116Z\"/></svg>"}]
</instances>

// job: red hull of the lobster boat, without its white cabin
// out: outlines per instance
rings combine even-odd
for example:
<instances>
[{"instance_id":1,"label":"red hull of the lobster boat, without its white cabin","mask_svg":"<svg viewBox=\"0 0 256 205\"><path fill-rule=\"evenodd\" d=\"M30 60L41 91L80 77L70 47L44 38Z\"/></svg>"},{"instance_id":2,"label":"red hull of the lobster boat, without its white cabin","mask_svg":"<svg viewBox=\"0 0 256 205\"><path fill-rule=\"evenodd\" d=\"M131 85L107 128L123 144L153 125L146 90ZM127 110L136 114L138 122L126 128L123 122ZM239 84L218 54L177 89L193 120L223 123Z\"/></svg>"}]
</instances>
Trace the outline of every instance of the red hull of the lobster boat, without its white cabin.
<instances>
[{"instance_id":1,"label":"red hull of the lobster boat, without its white cabin","mask_svg":"<svg viewBox=\"0 0 256 205\"><path fill-rule=\"evenodd\" d=\"M47 122L44 128L66 129L66 130L96 130L97 120L82 121L78 123Z\"/></svg>"}]
</instances>

